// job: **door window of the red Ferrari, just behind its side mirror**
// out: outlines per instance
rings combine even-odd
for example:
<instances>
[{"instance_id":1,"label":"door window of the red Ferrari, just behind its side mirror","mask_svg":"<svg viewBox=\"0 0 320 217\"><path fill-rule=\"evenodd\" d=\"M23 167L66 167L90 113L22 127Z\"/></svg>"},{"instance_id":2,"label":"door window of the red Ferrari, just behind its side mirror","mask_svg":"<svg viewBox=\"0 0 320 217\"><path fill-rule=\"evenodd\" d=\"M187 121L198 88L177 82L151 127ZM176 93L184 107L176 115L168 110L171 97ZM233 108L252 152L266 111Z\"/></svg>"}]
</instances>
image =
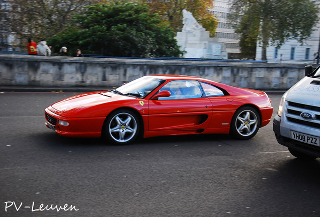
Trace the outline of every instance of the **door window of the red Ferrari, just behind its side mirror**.
<instances>
[{"instance_id":1,"label":"door window of the red Ferrari, just behind its side mirror","mask_svg":"<svg viewBox=\"0 0 320 217\"><path fill-rule=\"evenodd\" d=\"M162 90L170 91L171 96L159 97L159 100L199 98L202 96L202 90L199 82L195 80L171 81L163 86L159 91Z\"/></svg>"}]
</instances>

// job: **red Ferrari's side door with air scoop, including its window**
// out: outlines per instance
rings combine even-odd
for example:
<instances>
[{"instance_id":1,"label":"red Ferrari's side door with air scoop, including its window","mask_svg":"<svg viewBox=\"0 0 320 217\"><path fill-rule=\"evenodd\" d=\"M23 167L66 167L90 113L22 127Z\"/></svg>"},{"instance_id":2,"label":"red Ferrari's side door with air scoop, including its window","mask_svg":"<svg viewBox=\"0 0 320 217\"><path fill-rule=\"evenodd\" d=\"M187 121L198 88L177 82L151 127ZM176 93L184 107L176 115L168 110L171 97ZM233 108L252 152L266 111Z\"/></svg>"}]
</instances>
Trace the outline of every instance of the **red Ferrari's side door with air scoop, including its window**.
<instances>
[{"instance_id":1,"label":"red Ferrari's side door with air scoop, including its window","mask_svg":"<svg viewBox=\"0 0 320 217\"><path fill-rule=\"evenodd\" d=\"M162 90L170 91L171 96L149 100L149 131L208 128L212 103L203 97L198 81L171 81Z\"/></svg>"}]
</instances>

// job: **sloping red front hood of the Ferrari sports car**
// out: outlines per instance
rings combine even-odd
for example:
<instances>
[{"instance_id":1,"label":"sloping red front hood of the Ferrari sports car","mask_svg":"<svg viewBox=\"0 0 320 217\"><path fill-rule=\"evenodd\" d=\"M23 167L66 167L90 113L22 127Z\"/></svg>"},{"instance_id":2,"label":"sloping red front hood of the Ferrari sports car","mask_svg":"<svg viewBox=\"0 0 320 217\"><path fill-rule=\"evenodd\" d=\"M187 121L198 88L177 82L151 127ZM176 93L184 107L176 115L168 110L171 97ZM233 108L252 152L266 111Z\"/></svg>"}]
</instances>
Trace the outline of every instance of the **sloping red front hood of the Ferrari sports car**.
<instances>
[{"instance_id":1,"label":"sloping red front hood of the Ferrari sports car","mask_svg":"<svg viewBox=\"0 0 320 217\"><path fill-rule=\"evenodd\" d=\"M110 92L90 92L68 97L51 105L64 117L105 117L111 106L106 103L119 103L119 100L132 99L132 97L113 94ZM109 108L109 109L108 109Z\"/></svg>"}]
</instances>

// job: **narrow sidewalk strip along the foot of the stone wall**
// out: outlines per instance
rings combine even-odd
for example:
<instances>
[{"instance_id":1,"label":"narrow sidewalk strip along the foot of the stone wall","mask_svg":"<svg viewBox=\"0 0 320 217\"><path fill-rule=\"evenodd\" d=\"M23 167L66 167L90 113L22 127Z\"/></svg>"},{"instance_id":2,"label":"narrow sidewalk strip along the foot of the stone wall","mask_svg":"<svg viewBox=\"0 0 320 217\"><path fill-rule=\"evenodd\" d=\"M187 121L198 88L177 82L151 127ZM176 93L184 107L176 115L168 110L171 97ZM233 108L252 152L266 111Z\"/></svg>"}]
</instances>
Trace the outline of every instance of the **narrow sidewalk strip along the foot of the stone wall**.
<instances>
[{"instance_id":1,"label":"narrow sidewalk strip along the foot of the stone wall","mask_svg":"<svg viewBox=\"0 0 320 217\"><path fill-rule=\"evenodd\" d=\"M114 89L115 87L40 87L40 86L0 86L0 92L93 92ZM286 89L262 90L268 95L282 95Z\"/></svg>"}]
</instances>

